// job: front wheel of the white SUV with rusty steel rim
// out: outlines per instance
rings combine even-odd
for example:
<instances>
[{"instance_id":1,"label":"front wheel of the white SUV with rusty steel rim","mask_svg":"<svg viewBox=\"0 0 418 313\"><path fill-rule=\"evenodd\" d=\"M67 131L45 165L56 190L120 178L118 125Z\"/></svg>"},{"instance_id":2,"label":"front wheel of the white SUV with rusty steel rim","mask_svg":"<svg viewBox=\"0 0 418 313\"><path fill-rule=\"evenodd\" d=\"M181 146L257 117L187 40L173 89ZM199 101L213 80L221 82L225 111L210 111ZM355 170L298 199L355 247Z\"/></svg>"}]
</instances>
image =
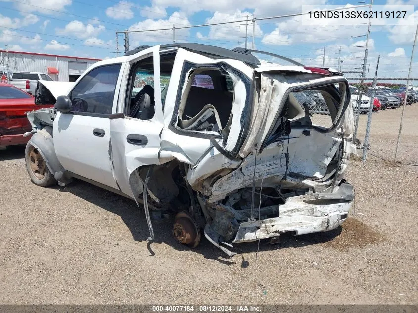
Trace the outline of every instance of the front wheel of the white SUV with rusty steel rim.
<instances>
[{"instance_id":1,"label":"front wheel of the white SUV with rusty steel rim","mask_svg":"<svg viewBox=\"0 0 418 313\"><path fill-rule=\"evenodd\" d=\"M30 142L26 145L25 162L29 177L34 184L41 187L56 184L56 180L46 166L41 153Z\"/></svg>"}]
</instances>

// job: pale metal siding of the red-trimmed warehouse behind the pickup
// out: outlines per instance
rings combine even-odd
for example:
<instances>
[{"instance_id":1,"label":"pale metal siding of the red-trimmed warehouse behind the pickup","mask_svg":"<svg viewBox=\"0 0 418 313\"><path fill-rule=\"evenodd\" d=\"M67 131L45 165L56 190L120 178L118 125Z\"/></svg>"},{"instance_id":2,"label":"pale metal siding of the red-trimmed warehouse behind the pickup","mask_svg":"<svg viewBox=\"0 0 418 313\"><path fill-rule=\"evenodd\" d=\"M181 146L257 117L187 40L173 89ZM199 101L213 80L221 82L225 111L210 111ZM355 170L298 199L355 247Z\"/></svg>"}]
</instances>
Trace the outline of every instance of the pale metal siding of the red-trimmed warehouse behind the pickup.
<instances>
[{"instance_id":1,"label":"pale metal siding of the red-trimmed warehouse behind the pickup","mask_svg":"<svg viewBox=\"0 0 418 313\"><path fill-rule=\"evenodd\" d=\"M1 57L4 52L1 52ZM56 67L59 71L58 80L61 82L68 82L68 61L84 62L87 67L96 63L95 60L65 58L47 55L33 55L20 54L9 52L10 56L10 72L25 71L25 72L41 72L48 74L47 67ZM6 60L5 60L6 61Z\"/></svg>"}]
</instances>

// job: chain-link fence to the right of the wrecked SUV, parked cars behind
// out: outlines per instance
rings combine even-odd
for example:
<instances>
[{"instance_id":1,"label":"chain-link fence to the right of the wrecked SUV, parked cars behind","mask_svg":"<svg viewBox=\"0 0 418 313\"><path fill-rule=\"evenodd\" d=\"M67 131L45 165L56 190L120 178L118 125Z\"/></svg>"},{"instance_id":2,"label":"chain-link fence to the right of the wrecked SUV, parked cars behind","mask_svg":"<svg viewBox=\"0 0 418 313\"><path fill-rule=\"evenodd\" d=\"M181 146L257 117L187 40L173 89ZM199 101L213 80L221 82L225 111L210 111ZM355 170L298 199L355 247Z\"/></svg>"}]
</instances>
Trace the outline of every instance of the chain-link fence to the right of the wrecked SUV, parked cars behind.
<instances>
[{"instance_id":1,"label":"chain-link fence to the right of the wrecked SUV, parked cars behind","mask_svg":"<svg viewBox=\"0 0 418 313\"><path fill-rule=\"evenodd\" d=\"M410 78L410 82L417 81ZM358 155L363 160L417 164L418 88L412 85L407 88L405 80L390 78L349 82Z\"/></svg>"}]
</instances>

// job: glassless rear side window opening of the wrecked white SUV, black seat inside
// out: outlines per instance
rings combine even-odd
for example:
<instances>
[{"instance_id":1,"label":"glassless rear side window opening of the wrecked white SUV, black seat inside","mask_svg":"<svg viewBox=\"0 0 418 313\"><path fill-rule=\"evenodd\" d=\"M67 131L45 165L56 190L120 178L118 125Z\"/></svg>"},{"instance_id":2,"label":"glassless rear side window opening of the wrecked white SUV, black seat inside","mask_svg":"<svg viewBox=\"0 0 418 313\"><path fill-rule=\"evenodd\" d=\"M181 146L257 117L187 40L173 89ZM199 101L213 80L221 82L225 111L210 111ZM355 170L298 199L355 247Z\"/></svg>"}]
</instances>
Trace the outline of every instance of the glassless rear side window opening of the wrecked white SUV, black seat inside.
<instances>
[{"instance_id":1,"label":"glassless rear side window opening of the wrecked white SUV, black seat inside","mask_svg":"<svg viewBox=\"0 0 418 313\"><path fill-rule=\"evenodd\" d=\"M231 120L232 78L217 69L196 69L188 79L177 126L184 130L221 134Z\"/></svg>"}]
</instances>

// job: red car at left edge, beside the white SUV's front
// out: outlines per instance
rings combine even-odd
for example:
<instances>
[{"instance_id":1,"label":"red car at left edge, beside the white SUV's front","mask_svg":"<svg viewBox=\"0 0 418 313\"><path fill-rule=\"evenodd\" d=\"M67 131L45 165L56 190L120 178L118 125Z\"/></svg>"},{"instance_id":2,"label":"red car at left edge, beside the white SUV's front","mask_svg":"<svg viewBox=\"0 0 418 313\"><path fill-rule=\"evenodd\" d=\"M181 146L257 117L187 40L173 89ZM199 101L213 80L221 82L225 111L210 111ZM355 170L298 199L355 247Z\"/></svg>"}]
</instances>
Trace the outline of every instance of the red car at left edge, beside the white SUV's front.
<instances>
[{"instance_id":1,"label":"red car at left edge, beside the white SUV's front","mask_svg":"<svg viewBox=\"0 0 418 313\"><path fill-rule=\"evenodd\" d=\"M36 105L30 94L0 83L0 148L26 144L30 136L23 137L23 134L31 131L32 127L25 112L48 107L52 105Z\"/></svg>"}]
</instances>

